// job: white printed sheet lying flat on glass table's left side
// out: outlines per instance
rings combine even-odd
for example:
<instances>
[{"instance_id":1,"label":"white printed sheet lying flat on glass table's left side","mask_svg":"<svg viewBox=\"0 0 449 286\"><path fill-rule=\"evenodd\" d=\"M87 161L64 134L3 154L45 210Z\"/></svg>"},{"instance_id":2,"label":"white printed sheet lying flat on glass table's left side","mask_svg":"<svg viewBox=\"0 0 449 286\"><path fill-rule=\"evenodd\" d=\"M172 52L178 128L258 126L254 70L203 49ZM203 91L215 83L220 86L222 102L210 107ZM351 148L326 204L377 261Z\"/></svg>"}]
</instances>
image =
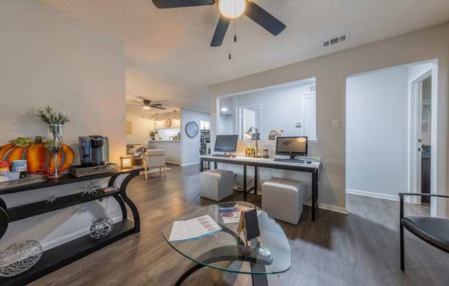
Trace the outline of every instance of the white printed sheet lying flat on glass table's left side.
<instances>
[{"instance_id":1,"label":"white printed sheet lying flat on glass table's left side","mask_svg":"<svg viewBox=\"0 0 449 286\"><path fill-rule=\"evenodd\" d=\"M185 221L174 221L169 241L197 239L218 230L221 230L220 225L213 221L209 214Z\"/></svg>"}]
</instances>

